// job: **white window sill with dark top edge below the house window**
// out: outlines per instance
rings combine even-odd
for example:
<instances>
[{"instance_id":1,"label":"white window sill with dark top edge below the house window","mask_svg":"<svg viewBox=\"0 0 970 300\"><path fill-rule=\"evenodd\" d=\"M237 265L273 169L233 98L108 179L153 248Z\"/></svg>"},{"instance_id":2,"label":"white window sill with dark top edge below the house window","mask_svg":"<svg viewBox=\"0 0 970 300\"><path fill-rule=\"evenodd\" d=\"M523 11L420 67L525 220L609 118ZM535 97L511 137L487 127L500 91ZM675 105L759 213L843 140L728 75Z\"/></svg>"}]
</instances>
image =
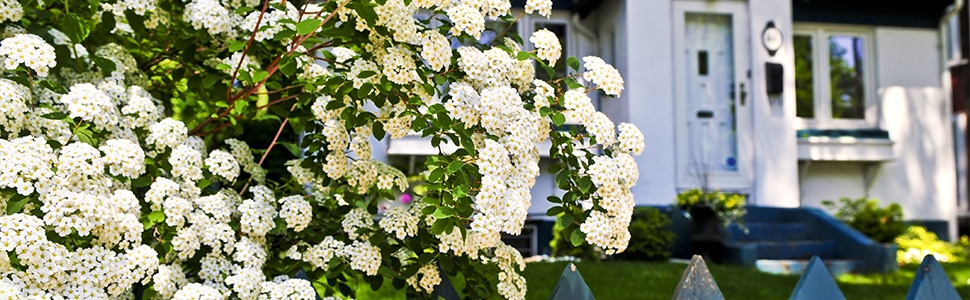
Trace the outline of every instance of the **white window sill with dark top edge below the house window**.
<instances>
[{"instance_id":1,"label":"white window sill with dark top edge below the house window","mask_svg":"<svg viewBox=\"0 0 970 300\"><path fill-rule=\"evenodd\" d=\"M799 130L798 160L885 162L895 160L883 130Z\"/></svg>"}]
</instances>

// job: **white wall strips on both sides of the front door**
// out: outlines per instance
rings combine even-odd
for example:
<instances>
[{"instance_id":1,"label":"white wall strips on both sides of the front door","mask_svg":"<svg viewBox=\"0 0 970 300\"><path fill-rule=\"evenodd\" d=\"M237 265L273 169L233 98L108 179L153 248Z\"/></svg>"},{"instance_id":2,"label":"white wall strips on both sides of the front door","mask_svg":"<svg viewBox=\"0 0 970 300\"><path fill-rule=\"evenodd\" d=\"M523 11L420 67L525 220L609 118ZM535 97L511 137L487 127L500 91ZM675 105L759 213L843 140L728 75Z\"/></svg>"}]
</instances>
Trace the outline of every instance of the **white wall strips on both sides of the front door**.
<instances>
[{"instance_id":1,"label":"white wall strips on both sides of the front door","mask_svg":"<svg viewBox=\"0 0 970 300\"><path fill-rule=\"evenodd\" d=\"M675 128L673 5L667 1L607 1L597 14L602 37L615 36L615 65L626 82L619 99L602 100L601 109L614 120L636 124L646 150L637 157L640 179L633 188L638 204L668 205L675 198L678 172ZM752 113L751 141L755 158L749 203L798 206L798 168L794 129L794 65L791 47L791 5L788 1L751 0L747 5L751 77L746 109ZM772 20L785 34L786 45L771 57L761 45L761 30ZM603 45L601 49L608 49ZM764 63L785 66L785 92L769 101L764 92ZM772 104L773 103L773 104ZM680 151L683 151L681 149Z\"/></svg>"}]
</instances>

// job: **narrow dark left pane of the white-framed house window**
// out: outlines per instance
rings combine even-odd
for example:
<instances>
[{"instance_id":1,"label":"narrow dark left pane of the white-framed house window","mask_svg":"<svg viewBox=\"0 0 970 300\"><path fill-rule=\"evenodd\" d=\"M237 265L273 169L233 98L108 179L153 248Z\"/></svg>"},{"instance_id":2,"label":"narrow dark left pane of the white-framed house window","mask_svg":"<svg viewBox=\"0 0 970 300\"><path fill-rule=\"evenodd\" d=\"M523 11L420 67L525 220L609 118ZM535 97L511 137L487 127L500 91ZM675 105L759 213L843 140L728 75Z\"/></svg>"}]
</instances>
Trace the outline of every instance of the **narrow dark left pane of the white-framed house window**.
<instances>
[{"instance_id":1,"label":"narrow dark left pane of the white-framed house window","mask_svg":"<svg viewBox=\"0 0 970 300\"><path fill-rule=\"evenodd\" d=\"M795 35L795 115L815 118L815 74L812 71L812 36Z\"/></svg>"}]
</instances>

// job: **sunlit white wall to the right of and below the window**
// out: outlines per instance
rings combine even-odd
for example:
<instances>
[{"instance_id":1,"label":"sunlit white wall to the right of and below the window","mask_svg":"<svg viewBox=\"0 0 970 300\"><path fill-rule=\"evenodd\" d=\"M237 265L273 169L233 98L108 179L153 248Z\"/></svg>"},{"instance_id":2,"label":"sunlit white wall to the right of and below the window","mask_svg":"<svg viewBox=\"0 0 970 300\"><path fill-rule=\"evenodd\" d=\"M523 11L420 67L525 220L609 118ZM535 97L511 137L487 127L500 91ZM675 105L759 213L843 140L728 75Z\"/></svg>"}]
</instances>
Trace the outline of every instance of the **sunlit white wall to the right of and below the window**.
<instances>
[{"instance_id":1,"label":"sunlit white wall to the right of and below the window","mask_svg":"<svg viewBox=\"0 0 970 300\"><path fill-rule=\"evenodd\" d=\"M878 128L889 132L895 160L874 173L868 195L899 203L909 220L941 220L956 233L956 178L950 105L942 91L936 30L877 27L874 32ZM862 197L862 164L813 162L802 204Z\"/></svg>"}]
</instances>

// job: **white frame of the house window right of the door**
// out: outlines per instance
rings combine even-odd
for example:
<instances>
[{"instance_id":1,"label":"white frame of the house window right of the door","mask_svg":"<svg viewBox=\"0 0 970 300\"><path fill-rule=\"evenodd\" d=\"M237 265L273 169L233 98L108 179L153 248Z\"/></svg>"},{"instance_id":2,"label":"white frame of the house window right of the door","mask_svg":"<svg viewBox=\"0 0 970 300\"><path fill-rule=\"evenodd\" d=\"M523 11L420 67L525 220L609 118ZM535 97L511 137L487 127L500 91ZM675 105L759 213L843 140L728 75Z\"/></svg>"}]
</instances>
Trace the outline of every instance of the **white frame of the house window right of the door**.
<instances>
[{"instance_id":1,"label":"white frame of the house window right of the door","mask_svg":"<svg viewBox=\"0 0 970 300\"><path fill-rule=\"evenodd\" d=\"M813 107L814 118L795 118L797 129L864 129L875 128L877 125L878 95L876 94L876 54L874 30L871 27L829 25L829 24L796 24L793 35L807 35L812 38L812 73L813 73ZM864 111L863 119L837 119L832 117L831 78L829 74L829 37L833 35L850 35L861 37L865 57L863 58L862 83ZM798 87L795 87L798 89ZM796 100L797 101L797 100Z\"/></svg>"}]
</instances>

